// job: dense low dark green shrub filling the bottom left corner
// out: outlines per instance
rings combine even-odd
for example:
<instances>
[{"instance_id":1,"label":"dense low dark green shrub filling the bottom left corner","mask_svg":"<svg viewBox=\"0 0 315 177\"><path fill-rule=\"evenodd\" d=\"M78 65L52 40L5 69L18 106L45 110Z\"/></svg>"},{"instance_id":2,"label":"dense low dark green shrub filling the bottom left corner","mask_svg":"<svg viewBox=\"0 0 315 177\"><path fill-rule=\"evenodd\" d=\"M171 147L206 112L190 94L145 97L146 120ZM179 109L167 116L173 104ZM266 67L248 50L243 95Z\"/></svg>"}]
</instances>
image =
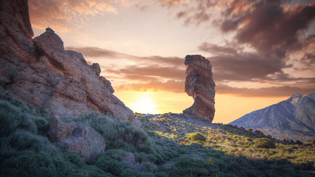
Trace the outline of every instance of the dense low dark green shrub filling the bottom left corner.
<instances>
[{"instance_id":1,"label":"dense low dark green shrub filling the bottom left corner","mask_svg":"<svg viewBox=\"0 0 315 177\"><path fill-rule=\"evenodd\" d=\"M47 153L21 151L4 160L3 176L112 176L87 165L76 154L66 153L65 159Z\"/></svg>"}]
</instances>

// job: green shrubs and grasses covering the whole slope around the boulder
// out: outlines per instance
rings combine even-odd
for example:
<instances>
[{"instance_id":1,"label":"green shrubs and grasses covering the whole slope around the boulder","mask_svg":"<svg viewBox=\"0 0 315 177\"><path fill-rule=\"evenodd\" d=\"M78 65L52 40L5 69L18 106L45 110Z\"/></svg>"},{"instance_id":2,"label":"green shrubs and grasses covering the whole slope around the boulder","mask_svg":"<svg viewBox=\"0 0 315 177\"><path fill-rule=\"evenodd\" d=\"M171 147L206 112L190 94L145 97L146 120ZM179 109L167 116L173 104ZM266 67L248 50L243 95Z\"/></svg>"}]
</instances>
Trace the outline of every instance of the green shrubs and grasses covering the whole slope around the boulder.
<instances>
[{"instance_id":1,"label":"green shrubs and grasses covering the whole slope around the boulder","mask_svg":"<svg viewBox=\"0 0 315 177\"><path fill-rule=\"evenodd\" d=\"M5 92L0 93L4 100ZM80 154L60 152L50 143L44 111L21 102L15 106L13 100L0 102L1 176L307 176L300 170L315 170L310 144L289 145L227 125L188 123L170 113L136 113L144 131L99 113L62 118L89 125L106 140L106 151L86 164ZM11 137L23 141L3 141ZM134 163L124 160L126 153L134 155Z\"/></svg>"}]
</instances>

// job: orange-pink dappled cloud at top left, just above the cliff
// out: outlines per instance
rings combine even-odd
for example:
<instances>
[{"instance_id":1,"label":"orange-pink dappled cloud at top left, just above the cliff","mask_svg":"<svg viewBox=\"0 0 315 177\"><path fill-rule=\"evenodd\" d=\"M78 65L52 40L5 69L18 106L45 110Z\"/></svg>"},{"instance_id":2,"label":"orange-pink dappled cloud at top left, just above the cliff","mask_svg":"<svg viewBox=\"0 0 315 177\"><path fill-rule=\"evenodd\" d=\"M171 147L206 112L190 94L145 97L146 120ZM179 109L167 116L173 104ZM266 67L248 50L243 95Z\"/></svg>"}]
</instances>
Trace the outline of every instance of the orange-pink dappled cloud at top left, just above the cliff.
<instances>
[{"instance_id":1,"label":"orange-pink dappled cloud at top left, just above the cliff","mask_svg":"<svg viewBox=\"0 0 315 177\"><path fill-rule=\"evenodd\" d=\"M111 3L111 0L29 0L28 6L33 27L45 29L49 26L65 31L82 28L91 16L118 13Z\"/></svg>"}]
</instances>

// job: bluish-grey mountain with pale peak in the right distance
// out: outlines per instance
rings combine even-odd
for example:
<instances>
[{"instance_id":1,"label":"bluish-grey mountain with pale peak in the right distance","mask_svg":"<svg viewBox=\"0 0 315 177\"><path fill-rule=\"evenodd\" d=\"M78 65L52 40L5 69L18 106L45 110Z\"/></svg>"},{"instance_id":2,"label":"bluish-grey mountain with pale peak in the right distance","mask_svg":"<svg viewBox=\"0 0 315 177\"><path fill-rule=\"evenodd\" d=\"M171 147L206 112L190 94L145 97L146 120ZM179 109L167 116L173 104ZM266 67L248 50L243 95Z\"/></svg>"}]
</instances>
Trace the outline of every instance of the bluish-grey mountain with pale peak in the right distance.
<instances>
[{"instance_id":1,"label":"bluish-grey mountain with pale peak in the right distance","mask_svg":"<svg viewBox=\"0 0 315 177\"><path fill-rule=\"evenodd\" d=\"M294 94L287 100L248 113L232 125L253 128L275 138L311 141L315 137L315 93Z\"/></svg>"}]
</instances>

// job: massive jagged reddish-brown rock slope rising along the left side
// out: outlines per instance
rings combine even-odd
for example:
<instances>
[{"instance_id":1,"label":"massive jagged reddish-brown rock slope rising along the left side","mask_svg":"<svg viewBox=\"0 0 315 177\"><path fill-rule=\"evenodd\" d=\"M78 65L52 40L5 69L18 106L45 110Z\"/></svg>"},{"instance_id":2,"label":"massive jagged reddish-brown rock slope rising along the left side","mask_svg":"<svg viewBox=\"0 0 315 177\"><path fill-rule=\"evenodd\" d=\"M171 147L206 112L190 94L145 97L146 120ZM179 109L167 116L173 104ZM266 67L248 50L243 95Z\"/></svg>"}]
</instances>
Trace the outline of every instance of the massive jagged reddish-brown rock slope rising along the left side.
<instances>
[{"instance_id":1,"label":"massive jagged reddish-brown rock slope rising along the left side","mask_svg":"<svg viewBox=\"0 0 315 177\"><path fill-rule=\"evenodd\" d=\"M50 28L32 39L27 0L0 1L0 83L15 97L52 115L89 111L133 121L133 112L112 93L99 64L65 50Z\"/></svg>"}]
</instances>

